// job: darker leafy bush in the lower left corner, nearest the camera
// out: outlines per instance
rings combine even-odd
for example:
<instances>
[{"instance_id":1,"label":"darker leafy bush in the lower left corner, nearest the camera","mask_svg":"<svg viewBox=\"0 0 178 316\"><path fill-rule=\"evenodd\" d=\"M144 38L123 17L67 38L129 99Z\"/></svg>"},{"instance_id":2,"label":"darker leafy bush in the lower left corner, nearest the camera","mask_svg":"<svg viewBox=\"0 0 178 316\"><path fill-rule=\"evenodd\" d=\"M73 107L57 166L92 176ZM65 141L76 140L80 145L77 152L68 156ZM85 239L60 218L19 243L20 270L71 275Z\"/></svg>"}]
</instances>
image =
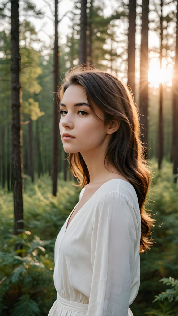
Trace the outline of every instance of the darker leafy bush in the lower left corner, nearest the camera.
<instances>
[{"instance_id":1,"label":"darker leafy bush in the lower left corner, nearest the camera","mask_svg":"<svg viewBox=\"0 0 178 316\"><path fill-rule=\"evenodd\" d=\"M41 300L49 301L50 297L54 296L51 282L54 263L51 258L48 258L48 255L42 254L45 249L39 246L40 240L38 242L32 240L30 243L22 238L22 235L16 237L9 234L7 237L9 237L9 241L3 245L5 248L2 249L0 262L2 282L0 313L20 315L22 309L24 313L22 315L36 315L39 307L41 311L44 310ZM21 252L24 257L22 258L18 256L18 250L13 251L17 242L21 242L23 245ZM40 244L44 244L44 242L40 241ZM46 264L43 263L45 260ZM23 296L21 297L21 295ZM41 313L38 314L41 315Z\"/></svg>"}]
</instances>

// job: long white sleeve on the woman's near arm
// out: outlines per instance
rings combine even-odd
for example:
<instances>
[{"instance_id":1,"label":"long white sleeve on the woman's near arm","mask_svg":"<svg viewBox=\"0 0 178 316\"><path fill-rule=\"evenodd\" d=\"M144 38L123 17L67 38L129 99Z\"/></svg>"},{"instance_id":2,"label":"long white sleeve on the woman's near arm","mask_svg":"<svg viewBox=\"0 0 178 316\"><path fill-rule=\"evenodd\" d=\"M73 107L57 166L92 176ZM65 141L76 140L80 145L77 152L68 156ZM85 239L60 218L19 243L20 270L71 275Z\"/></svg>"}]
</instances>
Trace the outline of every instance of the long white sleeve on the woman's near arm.
<instances>
[{"instance_id":1,"label":"long white sleeve on the woman's near arm","mask_svg":"<svg viewBox=\"0 0 178 316\"><path fill-rule=\"evenodd\" d=\"M88 316L127 316L140 279L139 208L120 192L96 205L92 230L92 285Z\"/></svg>"}]
</instances>

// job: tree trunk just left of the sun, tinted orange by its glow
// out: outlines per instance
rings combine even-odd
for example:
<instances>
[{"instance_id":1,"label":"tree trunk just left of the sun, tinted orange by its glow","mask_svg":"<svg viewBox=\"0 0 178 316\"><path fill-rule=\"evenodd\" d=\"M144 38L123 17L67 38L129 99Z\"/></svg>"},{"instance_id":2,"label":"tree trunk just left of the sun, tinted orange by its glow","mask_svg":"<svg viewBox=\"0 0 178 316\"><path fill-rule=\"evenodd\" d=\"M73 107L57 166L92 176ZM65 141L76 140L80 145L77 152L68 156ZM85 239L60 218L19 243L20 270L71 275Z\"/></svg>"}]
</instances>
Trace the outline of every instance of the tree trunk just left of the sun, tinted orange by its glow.
<instances>
[{"instance_id":1,"label":"tree trunk just left of the sun, tinted orange by its glow","mask_svg":"<svg viewBox=\"0 0 178 316\"><path fill-rule=\"evenodd\" d=\"M140 47L140 125L141 140L148 147L148 15L149 0L142 3L142 31Z\"/></svg>"}]
</instances>

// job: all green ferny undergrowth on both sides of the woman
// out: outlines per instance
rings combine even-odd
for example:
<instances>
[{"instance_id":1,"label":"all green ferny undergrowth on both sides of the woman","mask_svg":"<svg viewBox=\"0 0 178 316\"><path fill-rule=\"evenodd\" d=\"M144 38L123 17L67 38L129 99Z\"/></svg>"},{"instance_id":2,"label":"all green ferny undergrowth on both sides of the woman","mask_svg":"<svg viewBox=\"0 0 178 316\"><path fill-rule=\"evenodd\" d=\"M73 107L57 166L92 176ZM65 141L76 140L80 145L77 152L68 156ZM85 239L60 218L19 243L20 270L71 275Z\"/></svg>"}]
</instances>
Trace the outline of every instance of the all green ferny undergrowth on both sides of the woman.
<instances>
[{"instance_id":1,"label":"all green ferny undergrowth on both sides of the woman","mask_svg":"<svg viewBox=\"0 0 178 316\"><path fill-rule=\"evenodd\" d=\"M170 163L164 161L161 172L157 170L156 161L150 161L149 164L154 178L147 209L152 210L156 218L156 226L152 229L155 244L150 251L140 256L140 289L131 310L137 316L175 316L178 186L170 176ZM52 306L56 298L53 282L54 242L79 198L79 192L72 183L62 180L59 181L56 197L49 190L50 177L42 177L32 184L26 176L24 184L24 230L18 236L13 235L12 194L3 191L0 194L0 237L3 240L0 249L0 313L4 316L11 315L17 302L21 304L19 299L22 295L25 295L23 304L27 301L26 295L37 304L40 310L38 315L45 315ZM22 245L22 249L15 251L14 246L18 244ZM20 253L22 257L19 256ZM164 279L170 275L175 281ZM170 285L171 289L165 291L165 285L159 282L160 279ZM158 295L162 292L164 294ZM156 295L163 300L152 303ZM172 301L168 301L168 295L172 297Z\"/></svg>"}]
</instances>

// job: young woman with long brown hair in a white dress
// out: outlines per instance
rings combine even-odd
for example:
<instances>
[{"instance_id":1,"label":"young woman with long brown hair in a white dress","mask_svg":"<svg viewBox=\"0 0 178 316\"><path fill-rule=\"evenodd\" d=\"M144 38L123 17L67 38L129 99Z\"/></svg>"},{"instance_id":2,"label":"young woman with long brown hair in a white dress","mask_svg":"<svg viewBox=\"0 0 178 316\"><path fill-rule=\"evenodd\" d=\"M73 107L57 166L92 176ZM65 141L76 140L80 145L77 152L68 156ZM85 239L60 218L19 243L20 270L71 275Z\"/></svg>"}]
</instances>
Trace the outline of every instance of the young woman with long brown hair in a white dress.
<instances>
[{"instance_id":1,"label":"young woman with long brown hair in a white dress","mask_svg":"<svg viewBox=\"0 0 178 316\"><path fill-rule=\"evenodd\" d=\"M136 105L127 86L97 69L70 71L58 97L62 143L82 190L56 239L48 316L133 315L153 222L143 208L150 172Z\"/></svg>"}]
</instances>

